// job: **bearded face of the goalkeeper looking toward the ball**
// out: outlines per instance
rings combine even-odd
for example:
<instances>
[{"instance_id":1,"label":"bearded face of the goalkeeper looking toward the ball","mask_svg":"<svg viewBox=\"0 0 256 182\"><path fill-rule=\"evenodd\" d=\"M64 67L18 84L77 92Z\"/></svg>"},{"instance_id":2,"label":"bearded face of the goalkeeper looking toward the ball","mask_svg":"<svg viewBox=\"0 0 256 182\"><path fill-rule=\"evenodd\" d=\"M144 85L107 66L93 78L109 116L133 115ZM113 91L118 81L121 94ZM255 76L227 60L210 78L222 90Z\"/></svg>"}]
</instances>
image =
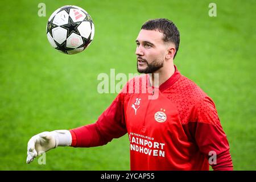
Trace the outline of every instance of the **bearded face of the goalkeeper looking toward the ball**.
<instances>
[{"instance_id":1,"label":"bearded face of the goalkeeper looking toward the ball","mask_svg":"<svg viewBox=\"0 0 256 182\"><path fill-rule=\"evenodd\" d=\"M136 39L137 71L154 73L164 65L167 47L163 33L155 30L141 30Z\"/></svg>"}]
</instances>

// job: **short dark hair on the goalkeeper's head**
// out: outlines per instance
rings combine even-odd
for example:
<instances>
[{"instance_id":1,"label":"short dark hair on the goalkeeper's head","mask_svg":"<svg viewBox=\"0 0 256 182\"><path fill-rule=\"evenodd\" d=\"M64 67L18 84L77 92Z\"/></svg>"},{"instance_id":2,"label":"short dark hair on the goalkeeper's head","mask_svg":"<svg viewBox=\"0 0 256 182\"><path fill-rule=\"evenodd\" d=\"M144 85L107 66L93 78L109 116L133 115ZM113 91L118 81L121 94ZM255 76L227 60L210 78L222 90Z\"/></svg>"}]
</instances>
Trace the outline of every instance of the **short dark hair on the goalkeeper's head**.
<instances>
[{"instance_id":1,"label":"short dark hair on the goalkeeper's head","mask_svg":"<svg viewBox=\"0 0 256 182\"><path fill-rule=\"evenodd\" d=\"M141 29L158 30L159 32L162 32L164 35L164 42L171 42L175 44L175 58L180 44L180 32L177 30L174 22L165 18L150 19L142 25Z\"/></svg>"}]
</instances>

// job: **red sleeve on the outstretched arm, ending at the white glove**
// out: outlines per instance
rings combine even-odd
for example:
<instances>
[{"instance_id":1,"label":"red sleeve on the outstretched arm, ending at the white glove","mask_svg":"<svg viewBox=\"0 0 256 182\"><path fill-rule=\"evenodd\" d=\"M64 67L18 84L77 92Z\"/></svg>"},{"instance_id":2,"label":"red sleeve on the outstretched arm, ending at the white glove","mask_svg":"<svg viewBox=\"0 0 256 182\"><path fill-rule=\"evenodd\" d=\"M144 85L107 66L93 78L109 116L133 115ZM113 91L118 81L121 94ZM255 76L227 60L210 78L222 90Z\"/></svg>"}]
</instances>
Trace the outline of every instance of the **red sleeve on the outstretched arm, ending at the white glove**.
<instances>
[{"instance_id":1,"label":"red sleeve on the outstretched arm, ending at the white glove","mask_svg":"<svg viewBox=\"0 0 256 182\"><path fill-rule=\"evenodd\" d=\"M119 93L96 123L72 129L73 147L96 147L127 133L123 110L124 94Z\"/></svg>"}]
</instances>

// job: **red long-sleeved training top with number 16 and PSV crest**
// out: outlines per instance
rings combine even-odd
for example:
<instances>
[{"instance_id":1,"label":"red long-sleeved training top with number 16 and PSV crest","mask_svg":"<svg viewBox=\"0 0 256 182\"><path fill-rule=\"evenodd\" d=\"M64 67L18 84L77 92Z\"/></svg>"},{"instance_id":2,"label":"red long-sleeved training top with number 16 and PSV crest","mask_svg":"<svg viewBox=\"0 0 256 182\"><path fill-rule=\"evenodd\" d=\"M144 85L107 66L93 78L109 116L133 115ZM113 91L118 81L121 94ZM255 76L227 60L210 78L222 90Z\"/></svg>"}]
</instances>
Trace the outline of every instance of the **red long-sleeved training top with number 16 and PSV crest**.
<instances>
[{"instance_id":1,"label":"red long-sleeved training top with number 16 and PSV crest","mask_svg":"<svg viewBox=\"0 0 256 182\"><path fill-rule=\"evenodd\" d=\"M212 99L176 67L159 88L148 80L131 79L96 123L70 130L72 146L102 146L128 133L131 170L233 170Z\"/></svg>"}]
</instances>

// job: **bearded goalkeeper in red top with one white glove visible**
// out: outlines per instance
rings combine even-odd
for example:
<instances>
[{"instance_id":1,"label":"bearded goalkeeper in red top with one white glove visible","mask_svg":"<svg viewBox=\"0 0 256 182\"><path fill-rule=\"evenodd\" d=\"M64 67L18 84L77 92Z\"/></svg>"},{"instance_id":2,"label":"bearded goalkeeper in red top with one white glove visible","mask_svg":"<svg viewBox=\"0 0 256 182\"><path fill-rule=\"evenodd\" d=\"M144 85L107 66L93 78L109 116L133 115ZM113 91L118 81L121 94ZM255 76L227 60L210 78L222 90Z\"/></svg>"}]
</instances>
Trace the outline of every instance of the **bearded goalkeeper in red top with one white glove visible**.
<instances>
[{"instance_id":1,"label":"bearded goalkeeper in red top with one white glove visible","mask_svg":"<svg viewBox=\"0 0 256 182\"><path fill-rule=\"evenodd\" d=\"M96 123L32 137L27 163L58 146L102 146L128 133L131 170L233 170L214 102L174 65L175 24L148 20L135 42L137 71L146 74L127 82Z\"/></svg>"}]
</instances>

